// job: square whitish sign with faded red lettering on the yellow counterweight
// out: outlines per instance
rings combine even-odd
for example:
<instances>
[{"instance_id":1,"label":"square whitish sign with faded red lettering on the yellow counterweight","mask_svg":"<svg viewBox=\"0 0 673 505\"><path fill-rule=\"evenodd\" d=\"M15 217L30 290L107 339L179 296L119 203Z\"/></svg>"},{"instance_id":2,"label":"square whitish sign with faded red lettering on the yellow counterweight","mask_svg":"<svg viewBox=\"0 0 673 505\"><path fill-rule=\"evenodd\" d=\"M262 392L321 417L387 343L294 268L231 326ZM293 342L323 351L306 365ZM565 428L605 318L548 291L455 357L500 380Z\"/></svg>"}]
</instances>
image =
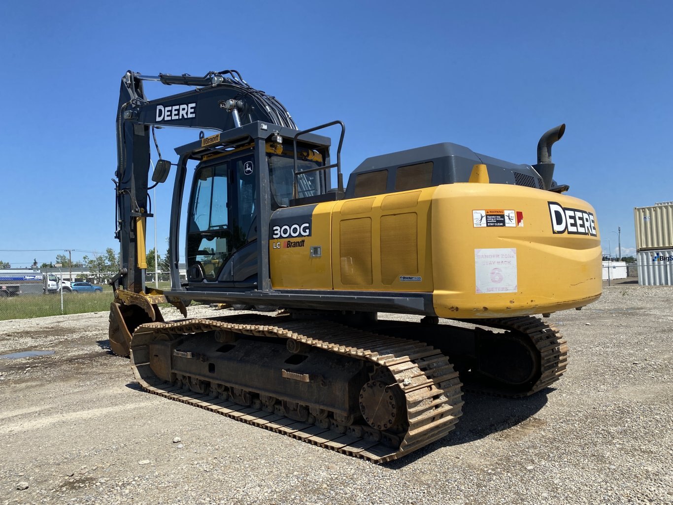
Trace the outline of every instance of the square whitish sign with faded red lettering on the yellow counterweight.
<instances>
[{"instance_id":1,"label":"square whitish sign with faded red lettering on the yellow counterweight","mask_svg":"<svg viewBox=\"0 0 673 505\"><path fill-rule=\"evenodd\" d=\"M474 249L476 293L516 293L516 248Z\"/></svg>"}]
</instances>

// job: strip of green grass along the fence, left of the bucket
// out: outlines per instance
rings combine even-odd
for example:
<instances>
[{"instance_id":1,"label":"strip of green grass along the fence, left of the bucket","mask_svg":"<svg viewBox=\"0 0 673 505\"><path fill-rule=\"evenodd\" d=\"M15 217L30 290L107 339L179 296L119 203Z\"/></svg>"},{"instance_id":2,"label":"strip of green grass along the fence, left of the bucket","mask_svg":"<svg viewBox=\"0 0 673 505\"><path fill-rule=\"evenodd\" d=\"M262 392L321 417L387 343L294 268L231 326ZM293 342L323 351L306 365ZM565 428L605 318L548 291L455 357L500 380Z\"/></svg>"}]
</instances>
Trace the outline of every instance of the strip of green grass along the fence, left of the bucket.
<instances>
[{"instance_id":1,"label":"strip of green grass along the fence, left of the bucket","mask_svg":"<svg viewBox=\"0 0 673 505\"><path fill-rule=\"evenodd\" d=\"M103 288L102 293L22 294L0 298L0 321L32 317L81 314L82 312L108 312L114 295L112 288Z\"/></svg>"}]
</instances>

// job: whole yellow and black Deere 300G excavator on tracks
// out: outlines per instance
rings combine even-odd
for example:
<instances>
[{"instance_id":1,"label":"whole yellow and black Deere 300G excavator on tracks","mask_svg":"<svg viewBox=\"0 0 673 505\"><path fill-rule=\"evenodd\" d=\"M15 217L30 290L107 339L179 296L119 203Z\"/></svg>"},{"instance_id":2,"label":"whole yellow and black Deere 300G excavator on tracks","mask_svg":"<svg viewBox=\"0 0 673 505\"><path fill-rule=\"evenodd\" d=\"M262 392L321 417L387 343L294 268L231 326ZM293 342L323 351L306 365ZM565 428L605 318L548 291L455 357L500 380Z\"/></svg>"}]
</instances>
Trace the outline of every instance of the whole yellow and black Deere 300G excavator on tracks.
<instances>
[{"instance_id":1,"label":"whole yellow and black Deere 300G excavator on tracks","mask_svg":"<svg viewBox=\"0 0 673 505\"><path fill-rule=\"evenodd\" d=\"M188 90L148 100L144 81ZM219 133L158 160L148 187L150 135L168 126ZM344 185L341 121L299 130L234 70L129 71L110 346L162 397L369 461L409 454L454 428L463 389L525 397L565 371L565 340L536 314L586 306L602 282L594 209L553 178L564 131L533 165L438 143L367 158ZM148 189L172 166L161 291L145 284ZM186 317L192 301L253 310L164 321L159 304Z\"/></svg>"}]
</instances>

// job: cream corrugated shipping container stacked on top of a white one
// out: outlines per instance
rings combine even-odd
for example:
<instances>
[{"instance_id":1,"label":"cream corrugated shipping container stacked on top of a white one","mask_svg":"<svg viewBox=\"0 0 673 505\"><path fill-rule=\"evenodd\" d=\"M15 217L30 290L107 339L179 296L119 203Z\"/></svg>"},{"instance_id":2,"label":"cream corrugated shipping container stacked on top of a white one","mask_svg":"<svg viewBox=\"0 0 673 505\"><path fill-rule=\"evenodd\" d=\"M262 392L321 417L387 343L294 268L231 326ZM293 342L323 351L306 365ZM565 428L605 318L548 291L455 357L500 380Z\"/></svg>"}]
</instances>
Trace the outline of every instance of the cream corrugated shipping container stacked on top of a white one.
<instances>
[{"instance_id":1,"label":"cream corrugated shipping container stacked on top of a white one","mask_svg":"<svg viewBox=\"0 0 673 505\"><path fill-rule=\"evenodd\" d=\"M673 201L635 207L633 220L637 250L673 249Z\"/></svg>"}]
</instances>

